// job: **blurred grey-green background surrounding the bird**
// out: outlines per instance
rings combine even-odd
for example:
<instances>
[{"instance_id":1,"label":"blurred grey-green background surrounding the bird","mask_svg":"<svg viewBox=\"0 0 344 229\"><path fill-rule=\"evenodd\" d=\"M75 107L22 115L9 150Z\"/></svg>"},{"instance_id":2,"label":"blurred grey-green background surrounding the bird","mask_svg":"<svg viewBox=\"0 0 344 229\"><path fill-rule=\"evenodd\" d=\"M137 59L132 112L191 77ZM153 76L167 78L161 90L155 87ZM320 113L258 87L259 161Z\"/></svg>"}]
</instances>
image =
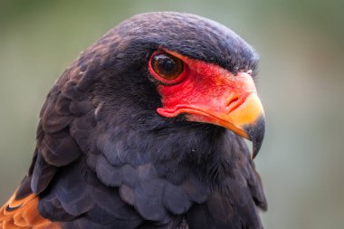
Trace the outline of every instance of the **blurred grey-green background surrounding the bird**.
<instances>
[{"instance_id":1,"label":"blurred grey-green background surrounding the bird","mask_svg":"<svg viewBox=\"0 0 344 229\"><path fill-rule=\"evenodd\" d=\"M261 55L266 228L343 228L344 1L0 0L0 202L33 155L53 81L102 33L148 11L200 14Z\"/></svg>"}]
</instances>

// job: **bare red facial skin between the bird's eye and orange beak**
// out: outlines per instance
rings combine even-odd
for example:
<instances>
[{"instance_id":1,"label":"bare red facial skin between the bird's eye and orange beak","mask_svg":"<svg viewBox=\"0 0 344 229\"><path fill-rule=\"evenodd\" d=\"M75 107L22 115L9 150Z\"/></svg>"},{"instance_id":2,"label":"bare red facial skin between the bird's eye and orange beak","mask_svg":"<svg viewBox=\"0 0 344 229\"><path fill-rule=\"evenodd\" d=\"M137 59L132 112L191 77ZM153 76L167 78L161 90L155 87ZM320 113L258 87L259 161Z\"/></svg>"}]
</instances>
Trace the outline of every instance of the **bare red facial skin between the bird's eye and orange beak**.
<instances>
[{"instance_id":1,"label":"bare red facial skin between the bird's eye and orange beak","mask_svg":"<svg viewBox=\"0 0 344 229\"><path fill-rule=\"evenodd\" d=\"M171 118L180 113L187 113L190 121L208 122L224 126L248 138L243 129L231 121L231 112L240 107L246 98L256 89L252 77L247 72L234 75L215 64L202 62L168 52L181 59L184 65L177 79L167 81L153 71L149 72L162 84L158 92L163 103L158 114Z\"/></svg>"}]
</instances>

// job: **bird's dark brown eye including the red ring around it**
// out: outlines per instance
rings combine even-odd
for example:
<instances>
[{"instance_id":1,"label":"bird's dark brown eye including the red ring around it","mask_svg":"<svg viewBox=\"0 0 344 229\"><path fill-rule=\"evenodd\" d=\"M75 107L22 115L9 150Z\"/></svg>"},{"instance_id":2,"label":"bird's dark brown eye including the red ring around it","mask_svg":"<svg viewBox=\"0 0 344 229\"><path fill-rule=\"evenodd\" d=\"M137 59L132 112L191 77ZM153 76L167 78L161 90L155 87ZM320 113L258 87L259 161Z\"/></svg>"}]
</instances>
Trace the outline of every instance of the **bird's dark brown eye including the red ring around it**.
<instances>
[{"instance_id":1,"label":"bird's dark brown eye including the red ring around it","mask_svg":"<svg viewBox=\"0 0 344 229\"><path fill-rule=\"evenodd\" d=\"M148 69L158 81L177 84L185 79L187 65L168 52L156 51L149 58Z\"/></svg>"}]
</instances>

